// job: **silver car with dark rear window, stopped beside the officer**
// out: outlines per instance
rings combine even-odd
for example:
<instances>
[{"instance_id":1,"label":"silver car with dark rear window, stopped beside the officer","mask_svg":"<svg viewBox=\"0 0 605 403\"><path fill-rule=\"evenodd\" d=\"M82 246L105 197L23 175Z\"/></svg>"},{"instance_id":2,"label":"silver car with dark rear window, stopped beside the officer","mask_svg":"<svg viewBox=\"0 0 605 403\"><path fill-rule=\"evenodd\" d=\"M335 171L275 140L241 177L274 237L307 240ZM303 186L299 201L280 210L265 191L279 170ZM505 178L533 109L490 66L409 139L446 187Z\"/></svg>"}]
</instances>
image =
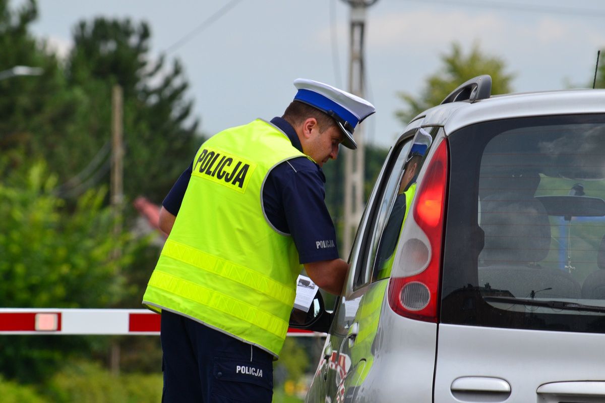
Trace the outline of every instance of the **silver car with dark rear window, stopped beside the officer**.
<instances>
[{"instance_id":1,"label":"silver car with dark rear window, stopped beside the officer","mask_svg":"<svg viewBox=\"0 0 605 403\"><path fill-rule=\"evenodd\" d=\"M490 91L391 148L307 402L605 402L605 90Z\"/></svg>"}]
</instances>

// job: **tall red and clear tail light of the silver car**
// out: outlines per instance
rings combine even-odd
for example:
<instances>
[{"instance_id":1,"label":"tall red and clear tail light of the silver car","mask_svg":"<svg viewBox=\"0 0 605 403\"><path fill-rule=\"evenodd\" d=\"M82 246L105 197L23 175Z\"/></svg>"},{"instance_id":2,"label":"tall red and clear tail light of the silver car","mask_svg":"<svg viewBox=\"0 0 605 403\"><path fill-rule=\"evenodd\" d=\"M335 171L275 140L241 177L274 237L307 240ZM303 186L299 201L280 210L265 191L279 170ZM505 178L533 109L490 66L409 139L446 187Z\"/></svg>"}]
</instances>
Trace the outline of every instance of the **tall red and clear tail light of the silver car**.
<instances>
[{"instance_id":1,"label":"tall red and clear tail light of the silver car","mask_svg":"<svg viewBox=\"0 0 605 403\"><path fill-rule=\"evenodd\" d=\"M448 148L444 139L416 190L388 287L391 309L408 318L434 323L438 320L447 177Z\"/></svg>"}]
</instances>

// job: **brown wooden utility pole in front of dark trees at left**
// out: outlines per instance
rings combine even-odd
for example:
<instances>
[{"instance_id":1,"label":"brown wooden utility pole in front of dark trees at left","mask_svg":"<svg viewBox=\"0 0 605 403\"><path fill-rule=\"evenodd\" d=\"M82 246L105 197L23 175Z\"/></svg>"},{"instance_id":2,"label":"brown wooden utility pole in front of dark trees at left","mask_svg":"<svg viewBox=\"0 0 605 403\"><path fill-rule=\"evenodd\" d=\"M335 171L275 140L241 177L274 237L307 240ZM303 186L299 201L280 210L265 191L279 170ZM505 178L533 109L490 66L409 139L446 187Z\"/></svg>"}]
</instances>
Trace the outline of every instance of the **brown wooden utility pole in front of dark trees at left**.
<instances>
[{"instance_id":1,"label":"brown wooden utility pole in front of dark trees at left","mask_svg":"<svg viewBox=\"0 0 605 403\"><path fill-rule=\"evenodd\" d=\"M114 85L111 91L111 209L114 219L114 239L118 239L122 233L122 209L123 209L123 158L124 148L123 136L123 102L122 87ZM122 256L120 247L113 251L113 260ZM116 275L119 275L120 267L116 263ZM111 372L117 375L120 372L120 343L117 339L111 342L110 353Z\"/></svg>"}]
</instances>

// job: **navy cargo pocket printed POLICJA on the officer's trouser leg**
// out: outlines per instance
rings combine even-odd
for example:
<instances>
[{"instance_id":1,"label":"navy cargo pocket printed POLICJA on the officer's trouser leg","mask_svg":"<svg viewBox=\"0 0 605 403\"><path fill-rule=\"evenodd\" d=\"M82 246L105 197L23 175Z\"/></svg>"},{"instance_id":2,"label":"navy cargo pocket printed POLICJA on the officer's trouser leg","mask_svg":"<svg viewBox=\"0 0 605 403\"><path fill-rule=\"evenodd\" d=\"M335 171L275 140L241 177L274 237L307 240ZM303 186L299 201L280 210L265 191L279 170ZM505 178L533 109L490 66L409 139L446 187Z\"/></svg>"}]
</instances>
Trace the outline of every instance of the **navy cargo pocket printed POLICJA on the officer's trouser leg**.
<instances>
[{"instance_id":1,"label":"navy cargo pocket printed POLICJA on the officer's trouser leg","mask_svg":"<svg viewBox=\"0 0 605 403\"><path fill-rule=\"evenodd\" d=\"M272 362L214 359L212 403L270 403L272 397Z\"/></svg>"}]
</instances>

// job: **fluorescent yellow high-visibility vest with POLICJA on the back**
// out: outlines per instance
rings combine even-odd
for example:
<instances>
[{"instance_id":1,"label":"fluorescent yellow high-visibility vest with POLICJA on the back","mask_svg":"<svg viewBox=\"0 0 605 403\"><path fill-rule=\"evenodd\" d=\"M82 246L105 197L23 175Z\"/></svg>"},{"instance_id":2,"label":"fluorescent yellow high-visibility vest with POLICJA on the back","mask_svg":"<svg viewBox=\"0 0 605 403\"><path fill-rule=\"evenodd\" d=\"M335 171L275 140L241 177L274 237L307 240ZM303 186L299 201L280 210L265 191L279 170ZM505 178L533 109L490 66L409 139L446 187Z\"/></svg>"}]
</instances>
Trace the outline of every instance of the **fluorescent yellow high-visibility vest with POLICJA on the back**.
<instances>
[{"instance_id":1,"label":"fluorescent yellow high-visibility vest with POLICJA on the back","mask_svg":"<svg viewBox=\"0 0 605 403\"><path fill-rule=\"evenodd\" d=\"M260 119L204 142L143 305L278 356L302 266L292 237L267 220L263 185L273 167L301 156Z\"/></svg>"}]
</instances>

